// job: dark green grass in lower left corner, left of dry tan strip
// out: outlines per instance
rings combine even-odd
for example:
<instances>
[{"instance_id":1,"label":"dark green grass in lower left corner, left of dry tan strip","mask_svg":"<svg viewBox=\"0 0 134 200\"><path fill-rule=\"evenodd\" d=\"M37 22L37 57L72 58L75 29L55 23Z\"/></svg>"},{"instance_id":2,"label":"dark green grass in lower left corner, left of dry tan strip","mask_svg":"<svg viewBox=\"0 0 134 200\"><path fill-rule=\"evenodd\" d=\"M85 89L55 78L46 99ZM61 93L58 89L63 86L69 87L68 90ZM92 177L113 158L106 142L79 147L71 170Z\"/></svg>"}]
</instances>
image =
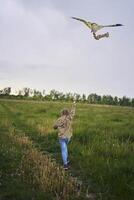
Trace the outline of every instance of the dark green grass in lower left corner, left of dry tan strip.
<instances>
[{"instance_id":1,"label":"dark green grass in lower left corner, left of dry tan strip","mask_svg":"<svg viewBox=\"0 0 134 200\"><path fill-rule=\"evenodd\" d=\"M0 109L2 111L2 108ZM52 195L36 190L32 185L22 182L20 164L23 149L9 136L7 125L10 124L6 113L2 112L0 123L0 200L44 200ZM4 120L5 119L5 120ZM4 124L4 122L6 122Z\"/></svg>"}]
</instances>

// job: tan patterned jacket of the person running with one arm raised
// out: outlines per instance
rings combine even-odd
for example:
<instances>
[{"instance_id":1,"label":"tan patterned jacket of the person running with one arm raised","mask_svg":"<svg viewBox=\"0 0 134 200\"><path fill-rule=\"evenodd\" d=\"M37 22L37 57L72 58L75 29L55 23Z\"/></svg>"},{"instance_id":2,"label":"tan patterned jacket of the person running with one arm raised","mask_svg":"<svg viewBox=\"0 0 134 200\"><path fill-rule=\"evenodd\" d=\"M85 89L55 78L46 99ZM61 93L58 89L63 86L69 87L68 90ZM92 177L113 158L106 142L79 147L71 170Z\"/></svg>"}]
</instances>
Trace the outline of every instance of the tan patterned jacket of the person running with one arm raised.
<instances>
[{"instance_id":1,"label":"tan patterned jacket of the person running with one arm raised","mask_svg":"<svg viewBox=\"0 0 134 200\"><path fill-rule=\"evenodd\" d=\"M54 124L54 129L58 129L59 138L71 138L72 136L72 119L75 115L75 107L71 109L68 115L62 115Z\"/></svg>"}]
</instances>

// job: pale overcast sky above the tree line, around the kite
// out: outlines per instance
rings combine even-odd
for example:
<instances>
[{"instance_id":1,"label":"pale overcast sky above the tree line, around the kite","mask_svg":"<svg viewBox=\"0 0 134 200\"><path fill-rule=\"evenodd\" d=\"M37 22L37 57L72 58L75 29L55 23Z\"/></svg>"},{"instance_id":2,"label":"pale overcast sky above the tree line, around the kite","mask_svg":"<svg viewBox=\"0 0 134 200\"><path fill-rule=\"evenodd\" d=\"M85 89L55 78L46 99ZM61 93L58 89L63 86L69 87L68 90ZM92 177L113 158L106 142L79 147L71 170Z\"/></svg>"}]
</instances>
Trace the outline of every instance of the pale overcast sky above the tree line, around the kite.
<instances>
[{"instance_id":1,"label":"pale overcast sky above the tree line, around the kite","mask_svg":"<svg viewBox=\"0 0 134 200\"><path fill-rule=\"evenodd\" d=\"M97 41L71 16L124 26ZM0 0L0 89L134 97L133 19L133 0Z\"/></svg>"}]
</instances>

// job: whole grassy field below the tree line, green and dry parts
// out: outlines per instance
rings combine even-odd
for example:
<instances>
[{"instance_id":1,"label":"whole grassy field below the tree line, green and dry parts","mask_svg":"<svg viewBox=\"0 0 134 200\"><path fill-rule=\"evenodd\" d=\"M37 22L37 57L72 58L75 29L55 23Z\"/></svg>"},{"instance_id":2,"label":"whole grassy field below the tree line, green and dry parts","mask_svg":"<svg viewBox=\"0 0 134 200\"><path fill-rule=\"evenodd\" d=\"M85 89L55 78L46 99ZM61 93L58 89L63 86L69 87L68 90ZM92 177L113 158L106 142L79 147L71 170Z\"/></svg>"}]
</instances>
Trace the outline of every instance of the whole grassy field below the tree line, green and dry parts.
<instances>
[{"instance_id":1,"label":"whole grassy field below the tree line, green and dry parts","mask_svg":"<svg viewBox=\"0 0 134 200\"><path fill-rule=\"evenodd\" d=\"M78 104L64 172L53 130L63 107L0 101L0 200L132 200L134 109Z\"/></svg>"}]
</instances>

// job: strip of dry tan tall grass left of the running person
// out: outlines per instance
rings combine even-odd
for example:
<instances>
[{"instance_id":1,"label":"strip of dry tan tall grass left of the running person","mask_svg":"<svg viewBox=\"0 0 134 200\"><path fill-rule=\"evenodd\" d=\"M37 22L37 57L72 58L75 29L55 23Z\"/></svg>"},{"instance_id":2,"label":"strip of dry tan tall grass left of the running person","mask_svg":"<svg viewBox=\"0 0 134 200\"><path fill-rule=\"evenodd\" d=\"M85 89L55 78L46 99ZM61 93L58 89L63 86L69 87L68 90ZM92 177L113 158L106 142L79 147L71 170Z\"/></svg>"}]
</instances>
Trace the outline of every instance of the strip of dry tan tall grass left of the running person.
<instances>
[{"instance_id":1,"label":"strip of dry tan tall grass left of the running person","mask_svg":"<svg viewBox=\"0 0 134 200\"><path fill-rule=\"evenodd\" d=\"M11 129L10 129L11 130ZM9 134L10 140L23 148L23 156L19 174L22 181L38 188L42 192L54 193L56 199L73 199L79 196L79 182L67 176L64 169L58 166L49 155L43 155L33 147L32 141L26 136Z\"/></svg>"}]
</instances>

